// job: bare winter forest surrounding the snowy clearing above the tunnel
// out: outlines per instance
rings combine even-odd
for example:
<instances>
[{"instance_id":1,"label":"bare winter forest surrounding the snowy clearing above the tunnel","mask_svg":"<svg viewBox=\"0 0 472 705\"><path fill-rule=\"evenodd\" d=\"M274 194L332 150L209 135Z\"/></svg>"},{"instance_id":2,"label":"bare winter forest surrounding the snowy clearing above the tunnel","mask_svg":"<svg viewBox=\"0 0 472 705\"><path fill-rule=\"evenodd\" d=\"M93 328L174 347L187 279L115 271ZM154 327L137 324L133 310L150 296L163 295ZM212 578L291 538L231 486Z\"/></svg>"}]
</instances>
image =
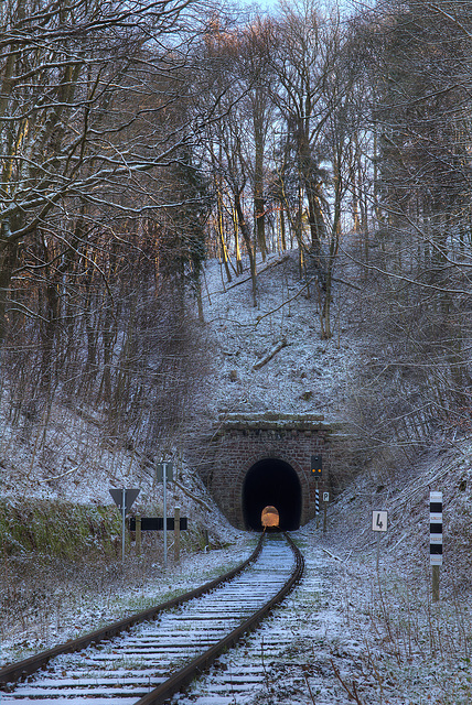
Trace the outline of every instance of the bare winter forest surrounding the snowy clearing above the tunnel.
<instances>
[{"instance_id":1,"label":"bare winter forest surrounding the snowy clearing above the tunnel","mask_svg":"<svg viewBox=\"0 0 472 705\"><path fill-rule=\"evenodd\" d=\"M0 4L0 365L20 437L53 404L172 437L211 360L202 272L298 251L333 336L340 253L369 336L356 427L471 424L472 7ZM360 324L361 325L361 324ZM41 433L37 433L41 429Z\"/></svg>"}]
</instances>

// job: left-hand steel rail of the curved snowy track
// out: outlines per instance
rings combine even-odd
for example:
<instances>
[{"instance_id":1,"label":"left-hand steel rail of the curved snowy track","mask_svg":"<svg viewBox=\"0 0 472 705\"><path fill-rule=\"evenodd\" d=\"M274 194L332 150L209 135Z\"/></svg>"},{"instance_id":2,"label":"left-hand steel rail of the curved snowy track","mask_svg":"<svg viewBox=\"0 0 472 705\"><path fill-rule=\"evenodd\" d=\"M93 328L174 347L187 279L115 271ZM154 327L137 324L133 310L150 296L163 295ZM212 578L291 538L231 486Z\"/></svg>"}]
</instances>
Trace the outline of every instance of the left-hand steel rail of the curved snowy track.
<instances>
[{"instance_id":1,"label":"left-hand steel rail of the curved snowy track","mask_svg":"<svg viewBox=\"0 0 472 705\"><path fill-rule=\"evenodd\" d=\"M88 634L84 634L83 637L78 637L77 639L73 639L71 641L66 641L65 643L57 644L53 649L47 649L46 651L41 651L40 653L29 657L28 659L23 659L22 661L18 661L17 663L12 663L10 665L3 666L0 669L0 688L4 687L8 683L15 683L21 679L31 675L35 671L40 671L43 669L47 662L62 653L72 653L73 651L82 651L86 647L90 644L100 643L103 641L108 641L121 633L122 631L128 631L135 625L139 625L143 621L151 621L155 619L158 615L173 607L178 607L183 605L186 601L190 601L194 597L201 597L202 595L212 592L218 585L223 583L227 583L233 579L236 575L242 573L250 563L256 561L258 557L261 547L262 547L262 539L264 535L259 538L256 549L251 553L251 555L228 571L224 575L211 581L210 583L205 583L200 587L191 590L190 593L184 593L179 595L178 597L173 597L172 599L161 603L160 605L155 605L154 607L150 607L144 609L141 612L137 612L136 615L131 615L125 619L120 619L119 621L115 621L111 625L107 625L106 627L101 627L100 629L96 629Z\"/></svg>"}]
</instances>

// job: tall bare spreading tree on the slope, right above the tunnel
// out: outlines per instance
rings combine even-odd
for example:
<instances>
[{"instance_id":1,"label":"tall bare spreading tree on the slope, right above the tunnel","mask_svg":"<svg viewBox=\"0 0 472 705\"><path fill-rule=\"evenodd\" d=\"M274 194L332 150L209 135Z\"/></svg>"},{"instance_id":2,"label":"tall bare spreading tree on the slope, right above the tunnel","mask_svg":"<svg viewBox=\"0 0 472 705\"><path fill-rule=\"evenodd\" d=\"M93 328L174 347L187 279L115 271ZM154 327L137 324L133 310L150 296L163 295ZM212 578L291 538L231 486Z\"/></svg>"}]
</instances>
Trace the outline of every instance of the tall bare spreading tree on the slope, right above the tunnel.
<instances>
[{"instance_id":1,"label":"tall bare spreading tree on the slope, right above the tunnel","mask_svg":"<svg viewBox=\"0 0 472 705\"><path fill-rule=\"evenodd\" d=\"M285 129L278 193L296 232L301 271L311 269L321 337L331 338L333 275L360 133L354 108L358 65L339 13L321 15L309 1L283 6L272 63L277 80L271 95Z\"/></svg>"}]
</instances>

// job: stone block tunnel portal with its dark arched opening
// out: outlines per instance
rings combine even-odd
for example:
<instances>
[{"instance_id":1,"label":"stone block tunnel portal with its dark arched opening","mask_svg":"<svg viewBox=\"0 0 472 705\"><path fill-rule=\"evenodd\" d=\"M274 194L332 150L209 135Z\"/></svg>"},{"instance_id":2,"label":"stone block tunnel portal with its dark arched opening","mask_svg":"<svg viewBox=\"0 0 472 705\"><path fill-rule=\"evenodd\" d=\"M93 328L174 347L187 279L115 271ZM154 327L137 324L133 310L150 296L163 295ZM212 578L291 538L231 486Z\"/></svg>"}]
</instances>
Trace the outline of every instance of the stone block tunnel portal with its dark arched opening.
<instances>
[{"instance_id":1,"label":"stone block tunnel portal with its dark arched opening","mask_svg":"<svg viewBox=\"0 0 472 705\"><path fill-rule=\"evenodd\" d=\"M329 476L332 438L342 429L324 415L225 413L185 456L234 527L261 531L261 511L271 505L280 529L293 531L314 517L311 456L323 455Z\"/></svg>"}]
</instances>

